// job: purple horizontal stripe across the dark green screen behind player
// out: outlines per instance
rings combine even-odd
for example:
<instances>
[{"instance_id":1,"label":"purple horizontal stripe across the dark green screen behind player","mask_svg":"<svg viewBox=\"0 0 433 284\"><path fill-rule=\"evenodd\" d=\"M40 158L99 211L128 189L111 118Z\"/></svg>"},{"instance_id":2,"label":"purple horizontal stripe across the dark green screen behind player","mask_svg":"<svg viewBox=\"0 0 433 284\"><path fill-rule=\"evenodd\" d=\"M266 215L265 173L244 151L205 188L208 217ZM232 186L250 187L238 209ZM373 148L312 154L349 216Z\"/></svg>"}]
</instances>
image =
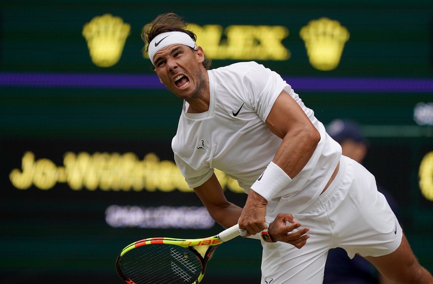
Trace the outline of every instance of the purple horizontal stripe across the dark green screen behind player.
<instances>
[{"instance_id":1,"label":"purple horizontal stripe across the dark green screen behind player","mask_svg":"<svg viewBox=\"0 0 433 284\"><path fill-rule=\"evenodd\" d=\"M296 91L433 92L426 78L284 77ZM154 74L0 73L0 86L164 89Z\"/></svg>"}]
</instances>

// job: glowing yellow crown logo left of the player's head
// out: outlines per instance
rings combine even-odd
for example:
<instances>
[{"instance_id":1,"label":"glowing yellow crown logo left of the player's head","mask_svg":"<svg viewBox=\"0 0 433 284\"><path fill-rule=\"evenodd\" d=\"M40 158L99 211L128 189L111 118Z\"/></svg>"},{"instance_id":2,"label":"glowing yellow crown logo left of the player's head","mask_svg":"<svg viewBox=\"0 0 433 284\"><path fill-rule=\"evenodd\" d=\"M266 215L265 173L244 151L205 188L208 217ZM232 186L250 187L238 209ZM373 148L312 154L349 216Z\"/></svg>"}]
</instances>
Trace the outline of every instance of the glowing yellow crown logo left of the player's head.
<instances>
[{"instance_id":1,"label":"glowing yellow crown logo left of the player's head","mask_svg":"<svg viewBox=\"0 0 433 284\"><path fill-rule=\"evenodd\" d=\"M131 26L111 14L94 17L83 27L92 62L99 67L110 67L121 58Z\"/></svg>"}]
</instances>

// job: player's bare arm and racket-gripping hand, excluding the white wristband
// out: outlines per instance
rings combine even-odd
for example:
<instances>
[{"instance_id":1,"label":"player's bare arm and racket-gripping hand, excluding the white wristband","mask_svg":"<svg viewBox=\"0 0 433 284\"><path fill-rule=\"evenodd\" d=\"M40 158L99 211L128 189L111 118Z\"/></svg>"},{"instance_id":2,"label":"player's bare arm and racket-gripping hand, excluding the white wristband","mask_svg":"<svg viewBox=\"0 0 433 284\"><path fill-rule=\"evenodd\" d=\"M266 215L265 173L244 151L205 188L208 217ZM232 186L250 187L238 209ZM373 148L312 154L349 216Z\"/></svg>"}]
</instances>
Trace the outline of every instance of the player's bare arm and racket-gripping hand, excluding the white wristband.
<instances>
[{"instance_id":1,"label":"player's bare arm and racket-gripping hand, excluding the white wristband","mask_svg":"<svg viewBox=\"0 0 433 284\"><path fill-rule=\"evenodd\" d=\"M266 125L272 133L282 139L271 163L281 172L283 179L290 181L308 163L320 141L320 134L301 106L284 90L273 104L266 118ZM275 189L269 188L269 190ZM250 234L263 230L266 205L267 200L260 195L260 192L251 189L239 220L240 227L246 228ZM282 228L278 226L274 230L280 232Z\"/></svg>"}]
</instances>

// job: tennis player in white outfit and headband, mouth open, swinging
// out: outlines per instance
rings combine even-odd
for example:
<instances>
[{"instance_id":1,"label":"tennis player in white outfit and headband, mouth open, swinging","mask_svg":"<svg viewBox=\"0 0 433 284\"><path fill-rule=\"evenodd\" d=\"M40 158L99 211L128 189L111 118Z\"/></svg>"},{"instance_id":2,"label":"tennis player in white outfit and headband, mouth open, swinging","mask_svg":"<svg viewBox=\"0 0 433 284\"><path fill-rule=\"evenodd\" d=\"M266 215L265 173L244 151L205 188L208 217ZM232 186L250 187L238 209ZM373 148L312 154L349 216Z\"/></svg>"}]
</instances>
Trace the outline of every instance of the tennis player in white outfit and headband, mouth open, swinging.
<instances>
[{"instance_id":1,"label":"tennis player in white outfit and headband, mouth open, swinging","mask_svg":"<svg viewBox=\"0 0 433 284\"><path fill-rule=\"evenodd\" d=\"M433 283L374 177L341 154L279 74L255 62L210 70L174 13L141 36L155 73L183 99L175 161L218 223L263 236L262 284L322 283L334 247L367 258L395 283ZM243 209L227 201L214 168L245 189Z\"/></svg>"}]
</instances>

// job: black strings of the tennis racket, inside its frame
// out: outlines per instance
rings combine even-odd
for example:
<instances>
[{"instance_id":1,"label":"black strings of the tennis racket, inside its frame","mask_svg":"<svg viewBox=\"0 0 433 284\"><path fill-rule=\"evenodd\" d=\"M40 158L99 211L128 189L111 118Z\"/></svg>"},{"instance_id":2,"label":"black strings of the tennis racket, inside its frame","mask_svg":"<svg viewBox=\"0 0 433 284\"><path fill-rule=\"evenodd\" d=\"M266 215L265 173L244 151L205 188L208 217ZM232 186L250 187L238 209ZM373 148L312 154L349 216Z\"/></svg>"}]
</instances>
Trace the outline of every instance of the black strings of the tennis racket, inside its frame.
<instances>
[{"instance_id":1,"label":"black strings of the tennis racket, inside its frame","mask_svg":"<svg viewBox=\"0 0 433 284\"><path fill-rule=\"evenodd\" d=\"M124 276L135 284L192 284L198 279L202 264L187 248L151 244L128 251L120 267Z\"/></svg>"}]
</instances>

